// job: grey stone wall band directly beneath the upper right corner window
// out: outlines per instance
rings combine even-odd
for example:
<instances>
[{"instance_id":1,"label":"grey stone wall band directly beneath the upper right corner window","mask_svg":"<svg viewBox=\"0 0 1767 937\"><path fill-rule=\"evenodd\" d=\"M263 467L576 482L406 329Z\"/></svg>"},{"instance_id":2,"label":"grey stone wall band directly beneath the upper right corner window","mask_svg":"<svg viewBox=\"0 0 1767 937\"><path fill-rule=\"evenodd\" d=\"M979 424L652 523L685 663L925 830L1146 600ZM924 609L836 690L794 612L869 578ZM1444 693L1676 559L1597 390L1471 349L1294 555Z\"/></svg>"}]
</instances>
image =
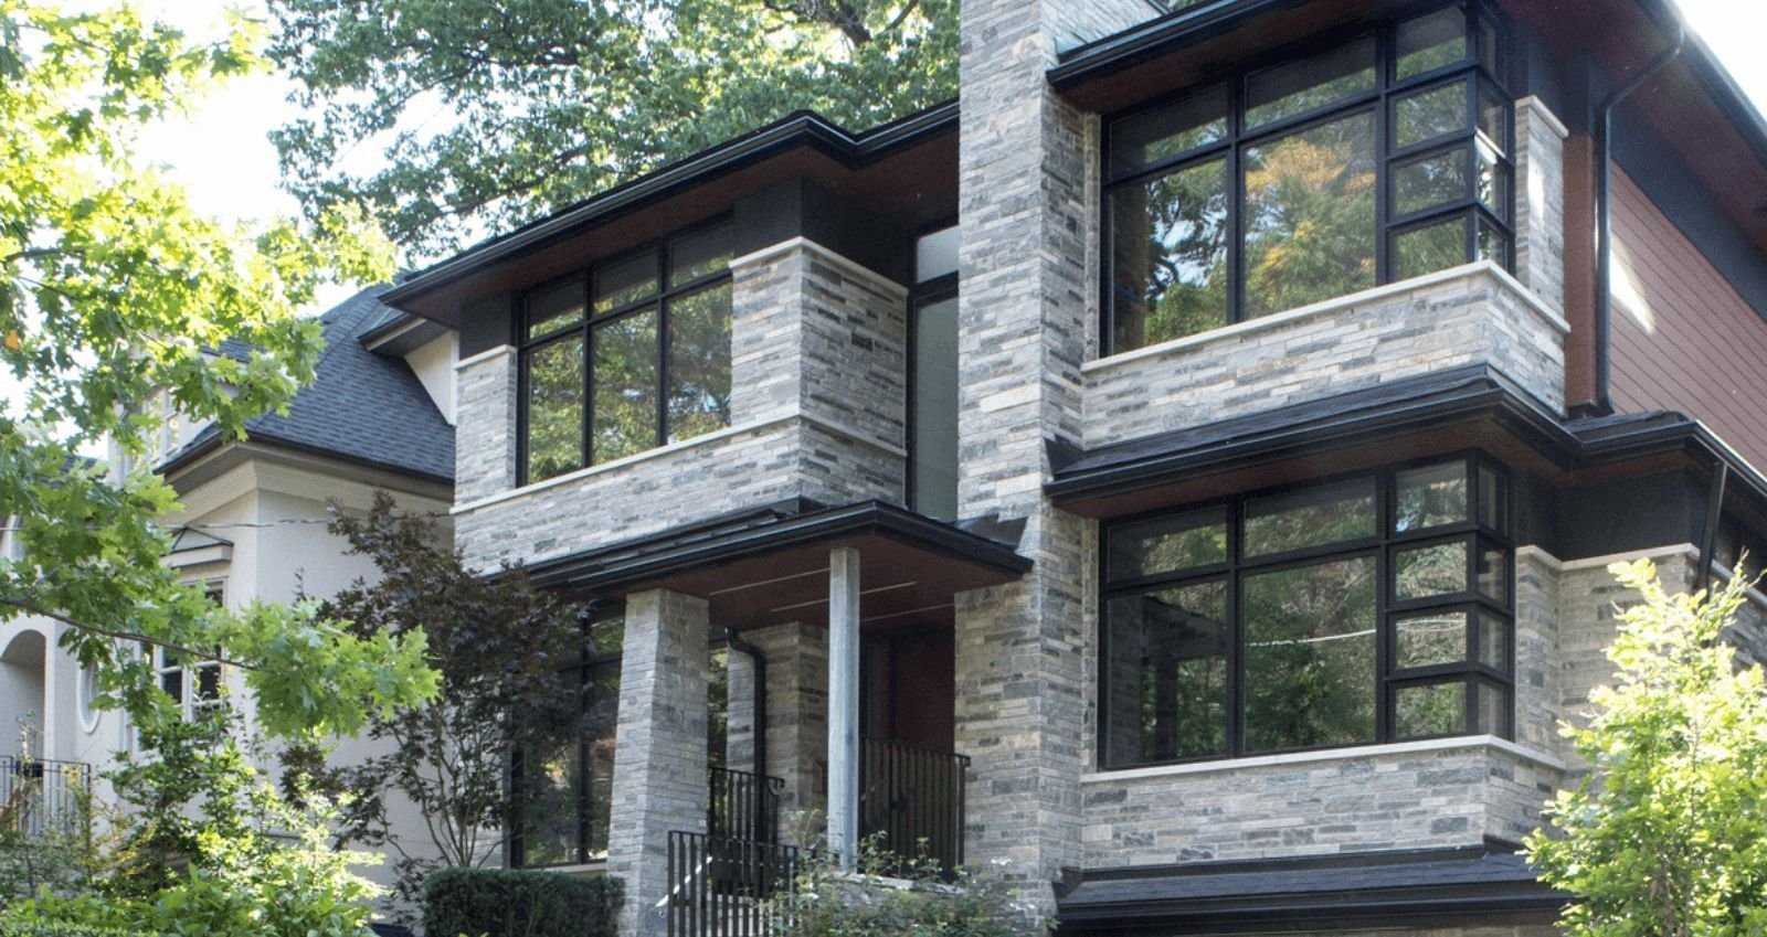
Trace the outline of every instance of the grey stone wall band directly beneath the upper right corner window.
<instances>
[{"instance_id":1,"label":"grey stone wall band directly beneath the upper right corner window","mask_svg":"<svg viewBox=\"0 0 1767 937\"><path fill-rule=\"evenodd\" d=\"M1085 367L1101 446L1488 362L1564 411L1557 312L1488 263L1205 332Z\"/></svg>"}]
</instances>

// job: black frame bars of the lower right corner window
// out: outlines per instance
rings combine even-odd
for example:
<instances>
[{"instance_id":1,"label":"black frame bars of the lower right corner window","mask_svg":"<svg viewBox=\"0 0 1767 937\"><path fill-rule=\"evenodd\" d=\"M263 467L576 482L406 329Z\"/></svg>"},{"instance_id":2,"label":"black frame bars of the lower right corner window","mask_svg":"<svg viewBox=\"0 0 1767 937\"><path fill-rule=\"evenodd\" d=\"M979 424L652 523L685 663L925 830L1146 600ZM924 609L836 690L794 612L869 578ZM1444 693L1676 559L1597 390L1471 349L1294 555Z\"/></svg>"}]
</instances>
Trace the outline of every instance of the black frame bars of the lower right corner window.
<instances>
[{"instance_id":1,"label":"black frame bars of the lower right corner window","mask_svg":"<svg viewBox=\"0 0 1767 937\"><path fill-rule=\"evenodd\" d=\"M1458 521L1452 524L1438 524L1431 528L1422 528L1415 531L1394 531L1396 513L1398 513L1398 475L1407 469L1438 466L1445 462L1460 461L1467 466L1467 521ZM1209 501L1187 503L1177 508L1161 508L1150 512L1140 512L1133 515L1122 515L1110 519L1099 528L1099 549L1097 549L1097 582L1099 582L1099 607L1097 607L1097 695L1096 706L1099 713L1097 720L1097 738L1094 739L1097 764L1101 771L1124 771L1136 768L1157 768L1168 764L1196 764L1212 761L1233 761L1244 757L1267 757L1283 755L1293 752L1329 752L1339 748L1364 748L1369 745L1394 745L1407 741L1422 741L1430 738L1458 738L1463 734L1475 734L1475 720L1479 716L1477 706L1477 685L1481 679L1498 683L1509 693L1509 706L1502 715L1502 725L1495 734L1500 738L1514 738L1514 709L1516 709L1516 543L1513 533L1486 528L1479 521L1481 505L1481 487L1484 483L1481 469L1488 469L1495 475L1498 485L1502 485L1502 501L1497 505L1498 521L1514 529L1516 517L1516 483L1514 475L1504 468L1502 462L1484 454L1483 450L1460 450L1438 455L1428 455L1419 459L1408 459L1403 462L1391 462L1375 469L1359 469L1336 475L1323 475L1308 478L1302 482L1293 482L1286 485L1276 485L1267 489L1256 489L1248 492L1232 494L1226 498L1216 498ZM1338 482L1350 482L1359 478L1375 478L1375 517L1376 517L1376 536L1343 540L1325 547L1308 547L1301 551L1286 551L1281 554L1269 554L1246 559L1244 558L1244 517L1246 503L1297 492L1308 489L1329 487ZM1161 517L1173 517L1182 513L1193 513L1210 508L1226 510L1226 535L1228 535L1228 561L1210 563L1207 566L1193 566L1173 573L1156 573L1143 577L1126 577L1110 579L1110 536L1117 528L1152 521ZM1430 596L1422 600L1398 602L1392 595L1396 588L1396 579L1392 575L1392 554L1396 549L1414 547L1414 545L1431 545L1445 542L1467 542L1472 543L1468 551L1467 566L1467 591L1449 593L1440 596ZM1495 602L1490 596L1479 593L1477 586L1477 563L1479 563L1479 545L1486 543L1504 551L1504 602ZM1246 628L1240 621L1240 591L1244 589L1244 581L1248 575L1281 572L1290 568L1313 566L1332 559L1375 559L1375 683L1369 688L1375 695L1375 738L1369 741L1355 741L1345 745L1320 745L1320 746L1290 746L1290 748L1260 748L1256 752L1246 750L1244 718L1246 718L1246 679L1244 679L1244 662L1246 662ZM1217 755L1194 755L1182 759L1156 759L1156 761L1133 761L1124 764L1113 764L1108 757L1110 743L1110 602L1117 596L1143 595L1156 589L1182 588L1200 582L1223 581L1226 584L1226 625L1232 630L1226 641L1226 701L1228 701L1228 729L1226 729L1226 752ZM1467 635L1467 658L1463 662L1452 662L1444 665L1440 672L1437 669L1396 669L1396 628L1394 619L1405 614L1414 614L1426 609L1437 611L1475 611L1468 619ZM1505 663L1509 672L1500 672L1481 663L1479 651L1479 628L1483 626L1481 614L1497 616L1509 623L1509 641L1505 644ZM1463 732L1451 732L1445 736L1407 736L1398 738L1392 732L1391 713L1394 706L1394 690L1403 685L1422 685L1422 683L1451 683L1452 678L1463 678L1467 683L1467 725Z\"/></svg>"}]
</instances>

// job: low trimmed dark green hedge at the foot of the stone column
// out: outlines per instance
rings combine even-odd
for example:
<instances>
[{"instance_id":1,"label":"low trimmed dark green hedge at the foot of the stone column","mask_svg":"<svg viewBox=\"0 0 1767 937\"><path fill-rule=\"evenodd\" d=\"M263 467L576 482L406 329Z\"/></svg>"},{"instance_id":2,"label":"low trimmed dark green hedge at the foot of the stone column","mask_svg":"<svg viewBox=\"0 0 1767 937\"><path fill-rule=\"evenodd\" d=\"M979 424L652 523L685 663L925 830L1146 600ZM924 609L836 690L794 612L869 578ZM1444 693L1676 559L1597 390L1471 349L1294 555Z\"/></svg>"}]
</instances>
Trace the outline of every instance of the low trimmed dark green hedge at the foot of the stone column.
<instances>
[{"instance_id":1,"label":"low trimmed dark green hedge at the foot of the stone column","mask_svg":"<svg viewBox=\"0 0 1767 937\"><path fill-rule=\"evenodd\" d=\"M626 889L608 875L438 868L424 882L428 937L615 937Z\"/></svg>"}]
</instances>

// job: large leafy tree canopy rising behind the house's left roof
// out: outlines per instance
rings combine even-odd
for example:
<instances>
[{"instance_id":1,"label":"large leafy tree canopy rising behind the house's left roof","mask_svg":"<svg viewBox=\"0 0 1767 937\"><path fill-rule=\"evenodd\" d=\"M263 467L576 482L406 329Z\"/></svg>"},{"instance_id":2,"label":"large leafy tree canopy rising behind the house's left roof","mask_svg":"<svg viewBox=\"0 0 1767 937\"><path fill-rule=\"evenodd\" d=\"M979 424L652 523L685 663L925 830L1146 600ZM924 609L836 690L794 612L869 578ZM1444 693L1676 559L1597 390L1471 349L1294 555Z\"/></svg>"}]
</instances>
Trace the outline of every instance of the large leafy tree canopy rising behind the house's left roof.
<instances>
[{"instance_id":1,"label":"large leafy tree canopy rising behind the house's left roof","mask_svg":"<svg viewBox=\"0 0 1767 937\"><path fill-rule=\"evenodd\" d=\"M956 97L956 0L272 0L313 116L274 134L315 214L368 198L421 254L797 108L852 127ZM447 115L440 118L438 115ZM373 171L355 154L378 148Z\"/></svg>"}]
</instances>

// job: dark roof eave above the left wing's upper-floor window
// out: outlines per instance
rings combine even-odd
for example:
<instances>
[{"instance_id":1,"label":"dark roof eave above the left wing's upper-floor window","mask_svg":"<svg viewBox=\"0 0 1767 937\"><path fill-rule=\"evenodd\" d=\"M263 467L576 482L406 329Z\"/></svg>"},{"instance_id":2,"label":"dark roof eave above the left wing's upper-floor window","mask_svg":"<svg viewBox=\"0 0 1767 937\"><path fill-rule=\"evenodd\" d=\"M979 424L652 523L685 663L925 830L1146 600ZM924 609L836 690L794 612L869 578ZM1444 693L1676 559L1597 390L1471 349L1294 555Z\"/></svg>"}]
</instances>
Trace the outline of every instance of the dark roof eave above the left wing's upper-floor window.
<instances>
[{"instance_id":1,"label":"dark roof eave above the left wing's upper-floor window","mask_svg":"<svg viewBox=\"0 0 1767 937\"><path fill-rule=\"evenodd\" d=\"M382 302L458 326L459 304L479 295L474 291L475 284L489 279L505 286L495 277L500 266L548 247L576 244L606 222L640 210L661 210L668 215L663 229L680 228L726 210L737 194L793 176L822 178L836 189L850 184L862 201L887 206L914 194L914 187L905 185L901 176L928 171L914 155L929 143L947 145L951 182L956 182L956 132L954 101L862 132L850 132L813 111L797 111L454 254L413 274L387 291ZM940 150L926 159L944 166L944 155ZM892 162L898 157L903 159L901 166ZM880 178L853 178L887 162L891 171L880 173ZM947 206L928 210L949 214ZM580 265L581 258L574 263ZM444 296L449 302L440 302Z\"/></svg>"}]
</instances>

